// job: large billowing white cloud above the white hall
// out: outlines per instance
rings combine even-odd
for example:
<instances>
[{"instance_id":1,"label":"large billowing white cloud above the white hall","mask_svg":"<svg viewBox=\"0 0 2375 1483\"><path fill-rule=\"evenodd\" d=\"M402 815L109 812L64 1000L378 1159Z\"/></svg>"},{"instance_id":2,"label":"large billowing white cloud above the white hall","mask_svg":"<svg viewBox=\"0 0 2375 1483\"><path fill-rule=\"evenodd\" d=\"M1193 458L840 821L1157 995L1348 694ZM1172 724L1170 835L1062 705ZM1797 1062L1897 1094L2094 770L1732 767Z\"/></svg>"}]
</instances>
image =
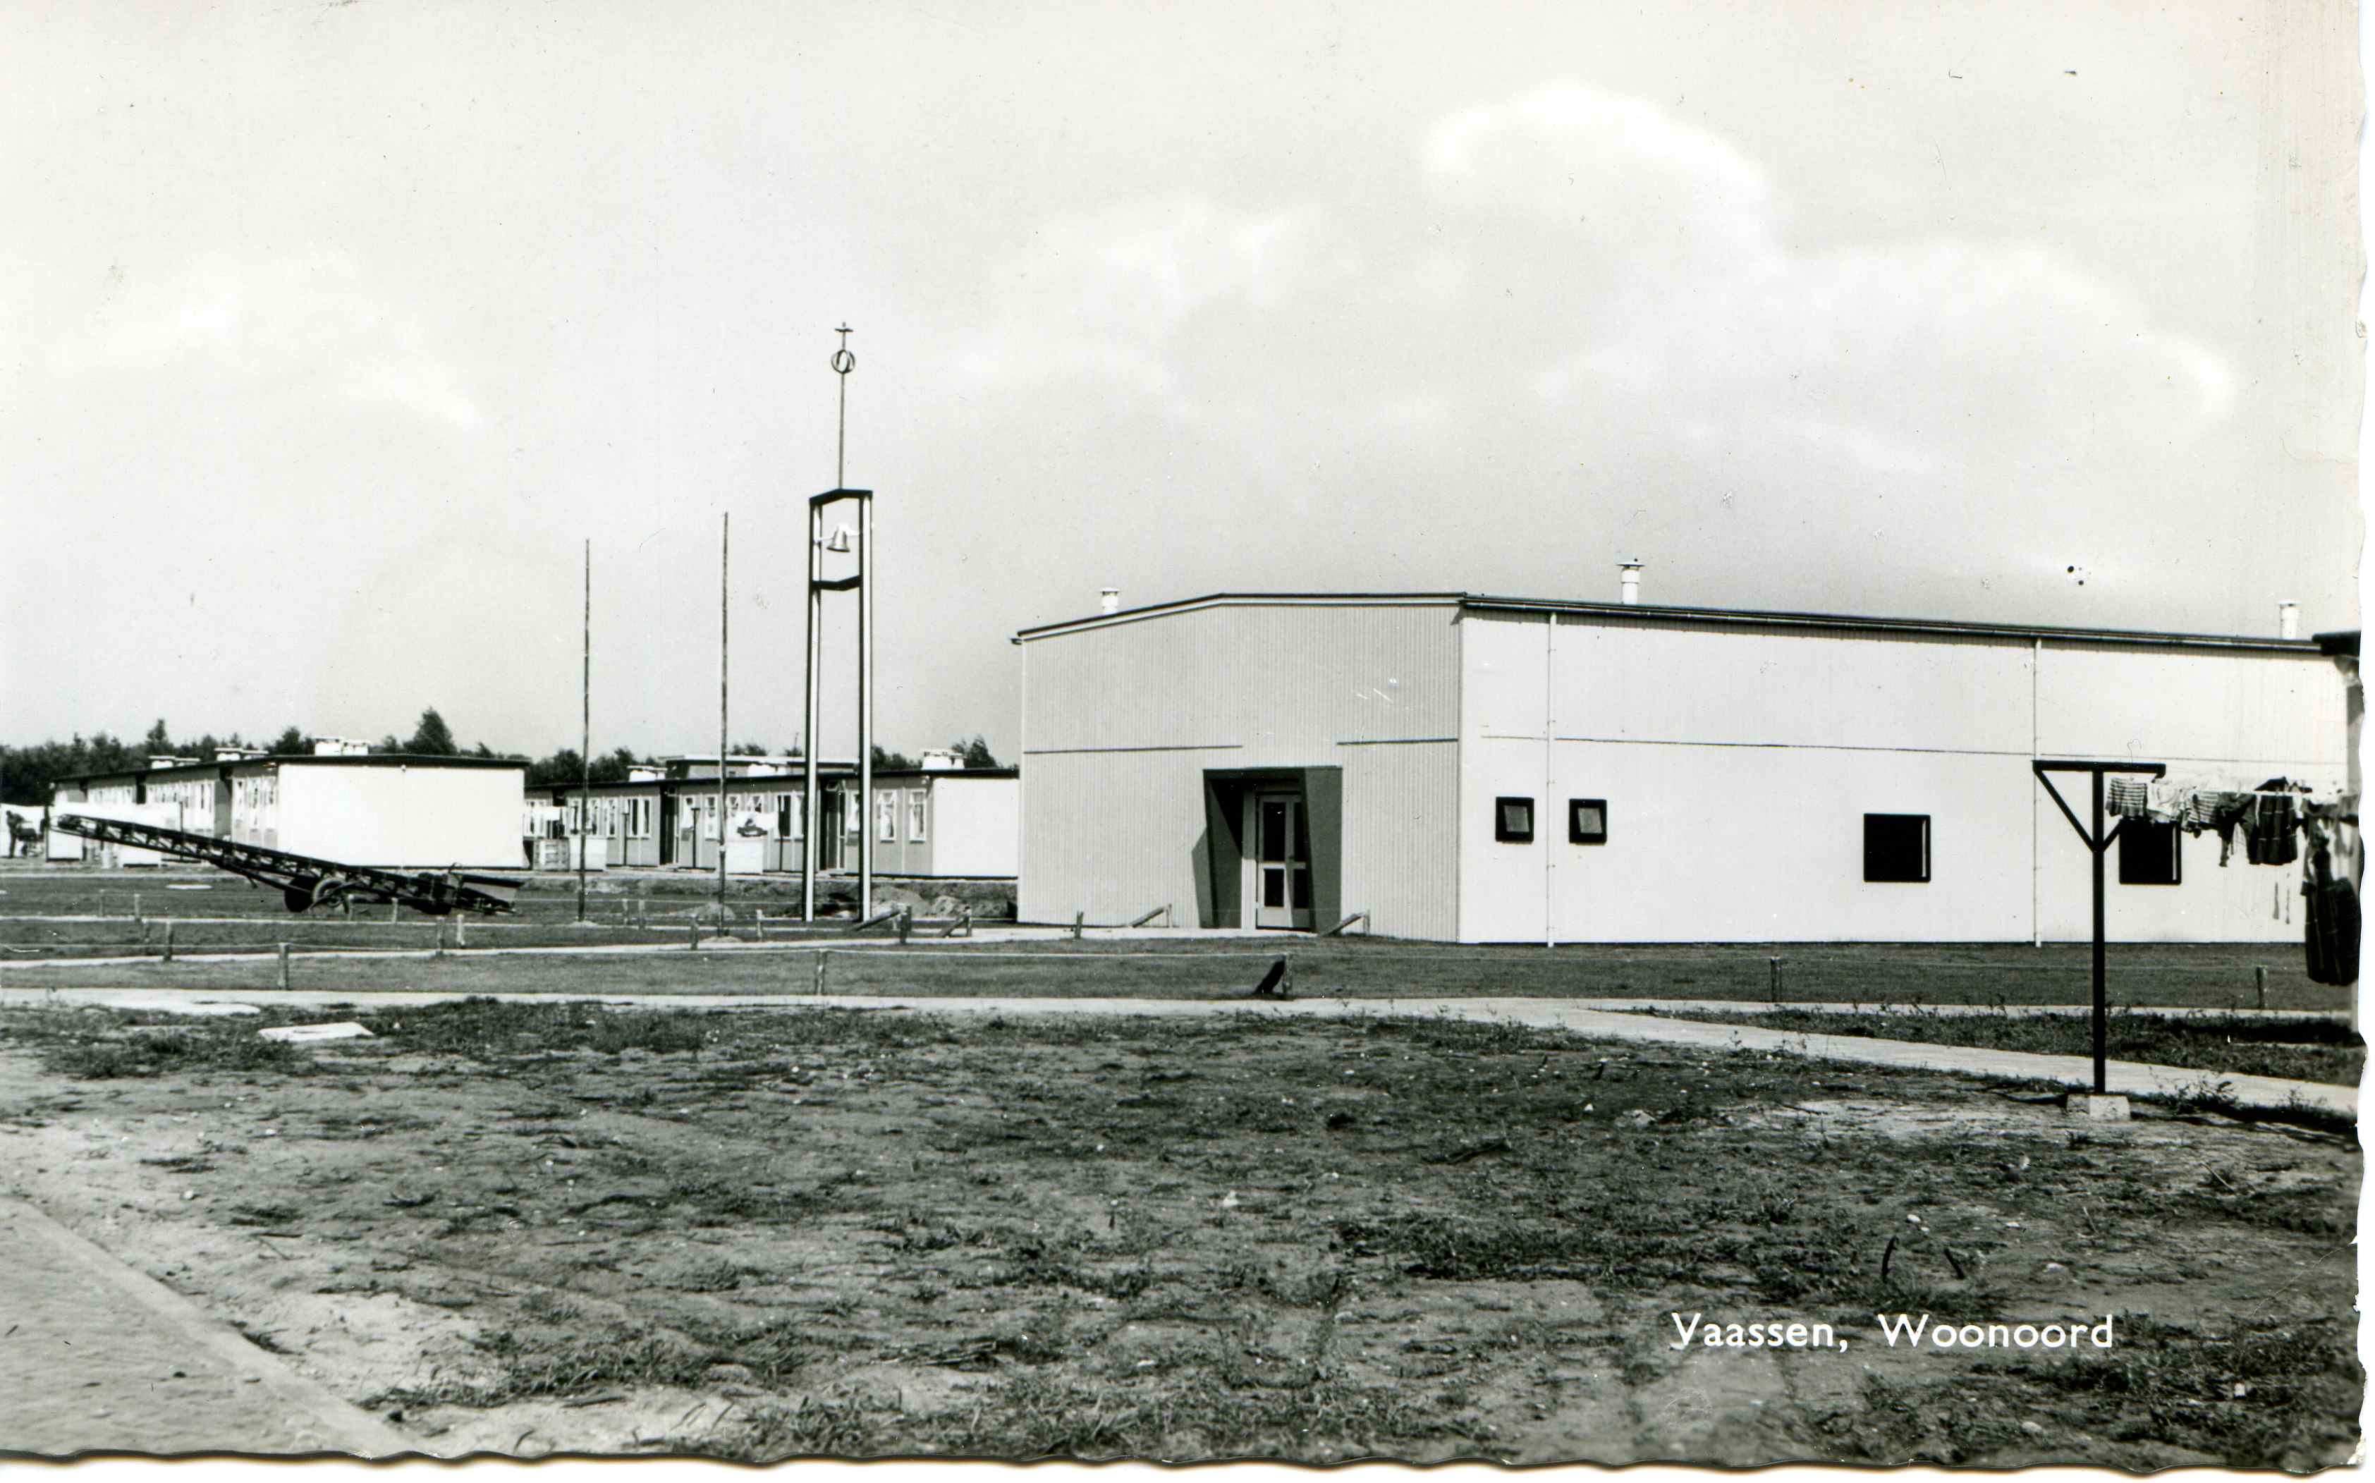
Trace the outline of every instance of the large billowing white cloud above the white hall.
<instances>
[{"instance_id":1,"label":"large billowing white cloud above the white hall","mask_svg":"<svg viewBox=\"0 0 2375 1483\"><path fill-rule=\"evenodd\" d=\"M2235 409L2216 349L2047 245L1793 245L1767 169L1648 100L1463 107L1404 171L1054 216L986 278L957 366L1083 387L1031 416L1154 414L1311 478L1489 449L1553 482L1622 459L1838 499L2190 478Z\"/></svg>"}]
</instances>

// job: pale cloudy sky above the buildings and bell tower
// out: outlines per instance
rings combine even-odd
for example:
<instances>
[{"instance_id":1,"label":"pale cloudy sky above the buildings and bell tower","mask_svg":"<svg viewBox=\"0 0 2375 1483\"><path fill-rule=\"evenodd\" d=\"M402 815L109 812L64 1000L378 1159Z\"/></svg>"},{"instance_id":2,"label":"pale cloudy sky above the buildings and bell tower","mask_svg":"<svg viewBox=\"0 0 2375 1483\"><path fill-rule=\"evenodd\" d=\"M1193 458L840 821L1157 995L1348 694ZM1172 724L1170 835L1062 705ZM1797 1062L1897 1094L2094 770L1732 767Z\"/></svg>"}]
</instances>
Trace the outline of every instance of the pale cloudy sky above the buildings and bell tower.
<instances>
[{"instance_id":1,"label":"pale cloudy sky above the buildings and bell tower","mask_svg":"<svg viewBox=\"0 0 2375 1483\"><path fill-rule=\"evenodd\" d=\"M791 746L841 323L893 749L1009 756L1009 637L1100 587L2354 627L2351 31L12 7L0 742L575 746L591 549L594 746L715 749L732 518Z\"/></svg>"}]
</instances>

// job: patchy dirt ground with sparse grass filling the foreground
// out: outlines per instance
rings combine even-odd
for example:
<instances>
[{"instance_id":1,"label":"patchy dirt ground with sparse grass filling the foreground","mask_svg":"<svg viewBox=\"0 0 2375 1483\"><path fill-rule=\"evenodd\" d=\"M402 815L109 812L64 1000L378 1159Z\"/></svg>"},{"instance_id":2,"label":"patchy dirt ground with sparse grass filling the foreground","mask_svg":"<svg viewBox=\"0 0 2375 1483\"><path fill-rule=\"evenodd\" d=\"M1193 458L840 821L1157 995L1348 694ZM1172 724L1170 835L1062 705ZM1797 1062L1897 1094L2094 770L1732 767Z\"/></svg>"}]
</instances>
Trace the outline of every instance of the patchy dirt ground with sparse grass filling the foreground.
<instances>
[{"instance_id":1,"label":"patchy dirt ground with sparse grass filling the foreground","mask_svg":"<svg viewBox=\"0 0 2375 1483\"><path fill-rule=\"evenodd\" d=\"M2358 1148L1454 1022L0 1012L0 1169L439 1450L2349 1457ZM344 1015L318 1015L344 1017ZM1677 1350L1672 1314L1843 1350ZM1888 1345L2116 1314L2097 1352Z\"/></svg>"}]
</instances>

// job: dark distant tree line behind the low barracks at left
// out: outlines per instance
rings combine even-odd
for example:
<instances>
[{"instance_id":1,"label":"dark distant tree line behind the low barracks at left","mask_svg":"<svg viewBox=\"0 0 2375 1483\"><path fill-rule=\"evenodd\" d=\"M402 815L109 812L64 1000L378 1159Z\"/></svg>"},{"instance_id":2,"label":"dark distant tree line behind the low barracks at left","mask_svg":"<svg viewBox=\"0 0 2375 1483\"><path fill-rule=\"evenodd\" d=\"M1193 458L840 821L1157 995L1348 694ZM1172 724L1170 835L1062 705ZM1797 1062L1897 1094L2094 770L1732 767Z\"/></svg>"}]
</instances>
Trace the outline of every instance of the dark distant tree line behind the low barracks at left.
<instances>
[{"instance_id":1,"label":"dark distant tree line behind the low barracks at left","mask_svg":"<svg viewBox=\"0 0 2375 1483\"><path fill-rule=\"evenodd\" d=\"M50 801L52 789L64 777L93 777L100 772L138 772L147 768L152 758L200 758L204 763L214 761L221 746L252 746L261 749L266 756L311 756L314 742L299 727L285 727L271 742L247 742L240 732L216 737L204 732L200 737L176 737L166 727L164 718L147 730L140 742L124 742L107 732L95 732L83 737L76 732L66 742L38 742L33 746L7 746L0 744L0 801L40 806ZM948 746L964 758L967 768L995 768L998 758L990 756L990 744L983 737L960 737ZM584 758L575 746L563 746L560 751L532 758L525 751L494 751L484 742L463 749L454 739L454 727L446 718L437 713L435 706L420 713L418 725L413 725L411 737L397 737L394 732L380 737L370 751L378 753L406 753L406 756L473 756L473 758L501 758L513 763L527 763L530 787L558 787L577 782L587 775ZM760 742L734 744L734 756L788 756L796 758L800 751L774 749ZM656 765L656 758L644 753L636 756L632 746L618 746L603 756L594 758L591 777L594 782L627 782L627 770L639 765ZM914 758L902 751L886 751L881 744L874 746L874 765L881 770L914 768Z\"/></svg>"}]
</instances>

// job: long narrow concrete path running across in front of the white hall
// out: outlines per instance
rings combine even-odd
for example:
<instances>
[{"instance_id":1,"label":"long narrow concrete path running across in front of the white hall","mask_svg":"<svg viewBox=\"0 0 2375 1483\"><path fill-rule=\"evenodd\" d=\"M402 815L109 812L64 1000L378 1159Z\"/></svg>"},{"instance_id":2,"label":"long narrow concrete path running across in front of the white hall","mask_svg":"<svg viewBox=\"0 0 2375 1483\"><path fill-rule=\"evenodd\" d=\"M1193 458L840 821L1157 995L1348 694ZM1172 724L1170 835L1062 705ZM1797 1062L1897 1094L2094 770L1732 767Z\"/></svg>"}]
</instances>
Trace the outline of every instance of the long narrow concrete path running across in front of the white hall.
<instances>
[{"instance_id":1,"label":"long narrow concrete path running across in front of the white hall","mask_svg":"<svg viewBox=\"0 0 2375 1483\"><path fill-rule=\"evenodd\" d=\"M138 998L128 998L138 996ZM200 1012L226 1012L218 1005L423 1005L466 998L442 991L197 991L197 989L0 989L0 1005L100 1005L100 1008L171 1008L188 1003ZM598 1001L618 1008L648 1010L779 1010L779 1008L841 1008L841 1010L922 1010L931 1015L1280 1015L1358 1020L1363 1015L1477 1020L1501 1024L1527 1024L1537 1029L1568 1029L1603 1041L1632 1041L1655 1046L1689 1046L1696 1050L1762 1050L1776 1055L1805 1055L1810 1060L1843 1060L1857 1065L1905 1067L1924 1072L1957 1072L1966 1077L1990 1077L2002 1081L2052 1081L2059 1086L2090 1088L2095 1062L2085 1055L2040 1055L2033 1050L1981 1050L1971 1046L1926 1046L1919 1041L1879 1041L1872 1036L1824 1036L1765 1029L1755 1024L1710 1024L1700 1020L1660 1020L1641 1012L1594 1008L1563 998L943 998L912 993L492 993L487 998L522 1003L570 1003ZM1598 1001L1610 1003L1610 1001ZM1622 1001L1615 1001L1622 1003ZM1639 1005L1627 1005L1639 1010ZM1755 1005L1722 1005L1727 1010ZM1831 1008L1831 1005L1824 1005ZM235 1010L233 1010L235 1012ZM2356 1086L2328 1086L2323 1081L2287 1081L2280 1077L2237 1077L2202 1072L2192 1067L2164 1067L2135 1060L2107 1065L2107 1086L2128 1096L2178 1096L2202 1091L2206 1084L2223 1084L2244 1107L2306 1105L2325 1112L2358 1115Z\"/></svg>"}]
</instances>

